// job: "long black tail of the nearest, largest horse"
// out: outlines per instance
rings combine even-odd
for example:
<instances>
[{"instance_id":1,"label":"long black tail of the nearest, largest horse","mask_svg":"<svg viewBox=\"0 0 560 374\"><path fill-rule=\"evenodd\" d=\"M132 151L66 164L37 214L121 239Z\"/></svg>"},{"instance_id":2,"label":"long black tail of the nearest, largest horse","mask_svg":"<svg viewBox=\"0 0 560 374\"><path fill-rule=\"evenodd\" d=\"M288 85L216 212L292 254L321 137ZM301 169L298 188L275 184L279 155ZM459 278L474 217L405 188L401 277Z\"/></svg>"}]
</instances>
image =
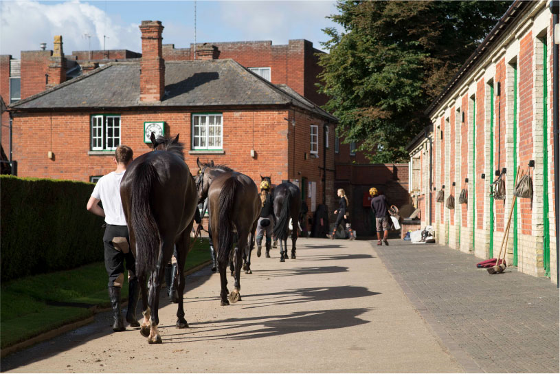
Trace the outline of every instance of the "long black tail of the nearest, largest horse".
<instances>
[{"instance_id":1,"label":"long black tail of the nearest, largest horse","mask_svg":"<svg viewBox=\"0 0 560 374\"><path fill-rule=\"evenodd\" d=\"M153 183L157 179L155 166L143 162L137 166L131 184L131 226L136 240L137 274L153 272L159 256L159 230L150 203Z\"/></svg>"}]
</instances>

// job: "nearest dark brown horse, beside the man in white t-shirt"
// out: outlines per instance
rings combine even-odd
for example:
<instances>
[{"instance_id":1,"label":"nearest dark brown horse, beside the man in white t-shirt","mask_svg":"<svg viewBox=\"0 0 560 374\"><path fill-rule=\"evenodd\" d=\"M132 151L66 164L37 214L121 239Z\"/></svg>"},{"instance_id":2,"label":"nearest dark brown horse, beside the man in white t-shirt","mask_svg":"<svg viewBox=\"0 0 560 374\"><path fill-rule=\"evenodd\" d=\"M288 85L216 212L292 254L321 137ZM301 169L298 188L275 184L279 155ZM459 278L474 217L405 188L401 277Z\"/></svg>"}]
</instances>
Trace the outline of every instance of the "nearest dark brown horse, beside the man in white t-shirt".
<instances>
[{"instance_id":1,"label":"nearest dark brown horse, beside the man in white t-shirt","mask_svg":"<svg viewBox=\"0 0 560 374\"><path fill-rule=\"evenodd\" d=\"M183 270L190 250L197 190L184 160L179 135L174 140L166 137L157 137L156 140L152 133L151 140L154 151L137 157L126 168L120 195L131 248L135 250L136 275L142 292L144 320L140 332L148 338L148 343L161 343L157 332L159 288L174 245L177 247L179 268L176 327L188 327L183 311ZM146 277L150 278L149 298Z\"/></svg>"}]
</instances>

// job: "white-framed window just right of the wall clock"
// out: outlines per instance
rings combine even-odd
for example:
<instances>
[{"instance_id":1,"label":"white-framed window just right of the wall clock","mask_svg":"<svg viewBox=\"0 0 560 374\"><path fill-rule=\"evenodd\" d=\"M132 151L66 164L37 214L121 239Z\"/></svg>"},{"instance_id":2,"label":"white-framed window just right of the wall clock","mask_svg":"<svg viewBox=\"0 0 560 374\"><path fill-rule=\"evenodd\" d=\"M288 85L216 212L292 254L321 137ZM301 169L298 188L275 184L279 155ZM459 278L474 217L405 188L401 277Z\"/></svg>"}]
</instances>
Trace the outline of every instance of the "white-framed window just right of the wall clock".
<instances>
[{"instance_id":1,"label":"white-framed window just right of the wall clock","mask_svg":"<svg viewBox=\"0 0 560 374\"><path fill-rule=\"evenodd\" d=\"M192 115L192 149L222 149L222 114Z\"/></svg>"}]
</instances>

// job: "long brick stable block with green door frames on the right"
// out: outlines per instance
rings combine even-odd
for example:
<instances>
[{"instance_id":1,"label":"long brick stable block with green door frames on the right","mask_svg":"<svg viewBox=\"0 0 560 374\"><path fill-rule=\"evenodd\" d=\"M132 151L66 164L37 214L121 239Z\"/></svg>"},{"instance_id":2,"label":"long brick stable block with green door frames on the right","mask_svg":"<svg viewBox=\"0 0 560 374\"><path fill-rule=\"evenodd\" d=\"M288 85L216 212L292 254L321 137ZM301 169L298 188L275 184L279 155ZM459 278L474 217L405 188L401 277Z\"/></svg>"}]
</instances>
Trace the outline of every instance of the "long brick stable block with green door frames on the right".
<instances>
[{"instance_id":1,"label":"long brick stable block with green door frames on the right","mask_svg":"<svg viewBox=\"0 0 560 374\"><path fill-rule=\"evenodd\" d=\"M552 148L552 14L546 1L514 1L426 113L432 126L410 151L410 191L438 243L497 256L517 166L533 179L533 199L517 199L508 264L557 282ZM530 166L529 166L530 165ZM431 168L430 168L431 166ZM506 199L490 186L505 172ZM431 181L431 184L430 184ZM468 203L457 201L462 188ZM455 209L436 192L456 197ZM430 203L428 203L430 201ZM430 222L431 217L431 222Z\"/></svg>"}]
</instances>

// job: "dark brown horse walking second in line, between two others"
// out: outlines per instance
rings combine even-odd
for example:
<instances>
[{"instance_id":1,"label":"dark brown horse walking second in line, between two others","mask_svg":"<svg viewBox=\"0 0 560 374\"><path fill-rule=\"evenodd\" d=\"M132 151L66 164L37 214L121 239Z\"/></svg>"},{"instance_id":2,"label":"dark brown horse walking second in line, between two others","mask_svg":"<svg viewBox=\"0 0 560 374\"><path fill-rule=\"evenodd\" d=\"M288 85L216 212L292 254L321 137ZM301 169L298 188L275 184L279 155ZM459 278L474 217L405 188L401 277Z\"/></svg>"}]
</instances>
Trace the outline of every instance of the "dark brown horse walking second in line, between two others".
<instances>
[{"instance_id":1,"label":"dark brown horse walking second in line, between two others","mask_svg":"<svg viewBox=\"0 0 560 374\"><path fill-rule=\"evenodd\" d=\"M199 202L208 197L210 207L208 210L210 214L209 231L212 232L212 242L218 257L221 305L229 305L229 301L237 303L238 300L241 300L240 272L243 256L241 251L248 252L246 253L248 255L246 272L251 272L251 251L260 216L258 189L253 179L227 166L214 165L213 161L210 164L201 164L199 159L197 159L197 164L199 166L197 177ZM229 294L225 271L234 243L234 229L237 231L237 243L233 256L234 290ZM250 244L247 243L248 238ZM229 301L227 300L228 294Z\"/></svg>"}]
</instances>

